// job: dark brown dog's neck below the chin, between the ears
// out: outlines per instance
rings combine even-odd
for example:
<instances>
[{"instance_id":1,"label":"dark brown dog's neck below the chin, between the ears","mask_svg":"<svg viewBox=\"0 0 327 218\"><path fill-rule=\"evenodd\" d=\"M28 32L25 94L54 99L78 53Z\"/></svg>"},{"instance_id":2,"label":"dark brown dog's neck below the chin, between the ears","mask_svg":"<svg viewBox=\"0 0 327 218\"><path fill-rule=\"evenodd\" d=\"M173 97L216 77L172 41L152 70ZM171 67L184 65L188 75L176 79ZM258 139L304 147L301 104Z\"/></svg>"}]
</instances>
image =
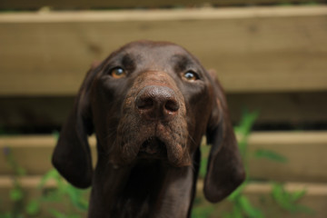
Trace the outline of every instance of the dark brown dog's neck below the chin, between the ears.
<instances>
[{"instance_id":1,"label":"dark brown dog's neck below the chin, between the ears","mask_svg":"<svg viewBox=\"0 0 327 218\"><path fill-rule=\"evenodd\" d=\"M101 155L98 165L101 167L94 172L89 217L189 215L196 176L193 166L175 168L159 160L142 160L116 168Z\"/></svg>"}]
</instances>

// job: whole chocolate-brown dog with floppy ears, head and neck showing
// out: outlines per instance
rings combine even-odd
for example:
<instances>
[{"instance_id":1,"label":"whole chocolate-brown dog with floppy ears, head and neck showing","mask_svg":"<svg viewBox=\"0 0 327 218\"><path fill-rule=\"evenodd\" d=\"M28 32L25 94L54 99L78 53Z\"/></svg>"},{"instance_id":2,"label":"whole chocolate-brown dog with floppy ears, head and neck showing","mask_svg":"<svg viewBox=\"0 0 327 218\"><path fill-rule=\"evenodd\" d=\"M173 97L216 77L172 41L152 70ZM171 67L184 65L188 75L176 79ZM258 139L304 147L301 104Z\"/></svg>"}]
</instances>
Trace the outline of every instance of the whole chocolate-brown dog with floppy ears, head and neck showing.
<instances>
[{"instance_id":1,"label":"whole chocolate-brown dog with floppy ears, head and neck showing","mask_svg":"<svg viewBox=\"0 0 327 218\"><path fill-rule=\"evenodd\" d=\"M92 184L88 217L190 217L203 135L212 144L205 197L221 201L243 182L213 77L181 46L149 41L124 45L86 74L53 163L75 186Z\"/></svg>"}]
</instances>

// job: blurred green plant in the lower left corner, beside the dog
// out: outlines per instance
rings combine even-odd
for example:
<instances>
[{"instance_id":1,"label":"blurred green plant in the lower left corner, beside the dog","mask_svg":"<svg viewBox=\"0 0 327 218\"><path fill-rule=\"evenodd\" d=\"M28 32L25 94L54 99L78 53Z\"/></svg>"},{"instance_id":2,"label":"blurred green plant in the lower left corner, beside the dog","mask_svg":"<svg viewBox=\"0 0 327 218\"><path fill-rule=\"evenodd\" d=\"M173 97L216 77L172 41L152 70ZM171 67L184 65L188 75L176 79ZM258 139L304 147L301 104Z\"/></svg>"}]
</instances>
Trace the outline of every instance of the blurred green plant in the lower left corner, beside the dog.
<instances>
[{"instance_id":1,"label":"blurred green plant in the lower left corner, beside the dog","mask_svg":"<svg viewBox=\"0 0 327 218\"><path fill-rule=\"evenodd\" d=\"M54 218L80 218L88 208L87 196L89 190L74 188L64 182L60 174L52 169L42 177L36 190L40 196L29 198L20 182L25 176L25 169L19 166L10 147L4 149L5 160L13 170L13 188L9 192L11 208L0 208L0 218L27 218L36 217L41 208L47 208L42 213L50 214ZM52 188L46 183L53 181ZM35 190L35 191L36 191ZM1 204L0 204L1 205Z\"/></svg>"}]
</instances>

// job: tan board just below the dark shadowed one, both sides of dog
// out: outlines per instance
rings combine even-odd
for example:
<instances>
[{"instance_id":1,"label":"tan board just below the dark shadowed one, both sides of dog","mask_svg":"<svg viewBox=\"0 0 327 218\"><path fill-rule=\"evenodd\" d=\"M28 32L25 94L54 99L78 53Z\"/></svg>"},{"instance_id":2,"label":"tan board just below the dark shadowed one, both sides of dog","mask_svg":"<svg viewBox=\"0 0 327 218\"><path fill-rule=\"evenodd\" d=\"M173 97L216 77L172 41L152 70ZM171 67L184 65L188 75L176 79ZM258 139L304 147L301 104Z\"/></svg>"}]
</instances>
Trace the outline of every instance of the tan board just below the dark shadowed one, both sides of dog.
<instances>
[{"instance_id":1,"label":"tan board just below the dark shadowed one, both sides of dog","mask_svg":"<svg viewBox=\"0 0 327 218\"><path fill-rule=\"evenodd\" d=\"M95 139L90 138L95 160ZM43 174L52 168L50 158L55 144L54 136L2 136L0 149L11 147L16 162L28 174ZM260 180L323 182L327 183L327 132L253 133L249 138L249 156L258 149L281 154L287 163L252 158L250 176ZM95 161L94 161L95 162ZM0 174L12 173L5 158L0 159Z\"/></svg>"}]
</instances>

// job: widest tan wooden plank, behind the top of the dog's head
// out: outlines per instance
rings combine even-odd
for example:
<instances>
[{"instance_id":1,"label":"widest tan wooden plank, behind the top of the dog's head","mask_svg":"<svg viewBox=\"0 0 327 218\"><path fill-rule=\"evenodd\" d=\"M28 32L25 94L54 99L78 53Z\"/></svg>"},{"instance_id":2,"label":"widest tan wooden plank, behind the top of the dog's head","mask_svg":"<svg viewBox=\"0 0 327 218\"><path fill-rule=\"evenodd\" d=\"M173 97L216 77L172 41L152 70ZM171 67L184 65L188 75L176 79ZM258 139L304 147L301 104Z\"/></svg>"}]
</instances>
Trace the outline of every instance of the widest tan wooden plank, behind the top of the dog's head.
<instances>
[{"instance_id":1,"label":"widest tan wooden plank, behind the top of the dog's head","mask_svg":"<svg viewBox=\"0 0 327 218\"><path fill-rule=\"evenodd\" d=\"M137 39L183 45L229 93L322 91L326 23L327 6L1 14L0 95L75 94L94 60Z\"/></svg>"}]
</instances>

